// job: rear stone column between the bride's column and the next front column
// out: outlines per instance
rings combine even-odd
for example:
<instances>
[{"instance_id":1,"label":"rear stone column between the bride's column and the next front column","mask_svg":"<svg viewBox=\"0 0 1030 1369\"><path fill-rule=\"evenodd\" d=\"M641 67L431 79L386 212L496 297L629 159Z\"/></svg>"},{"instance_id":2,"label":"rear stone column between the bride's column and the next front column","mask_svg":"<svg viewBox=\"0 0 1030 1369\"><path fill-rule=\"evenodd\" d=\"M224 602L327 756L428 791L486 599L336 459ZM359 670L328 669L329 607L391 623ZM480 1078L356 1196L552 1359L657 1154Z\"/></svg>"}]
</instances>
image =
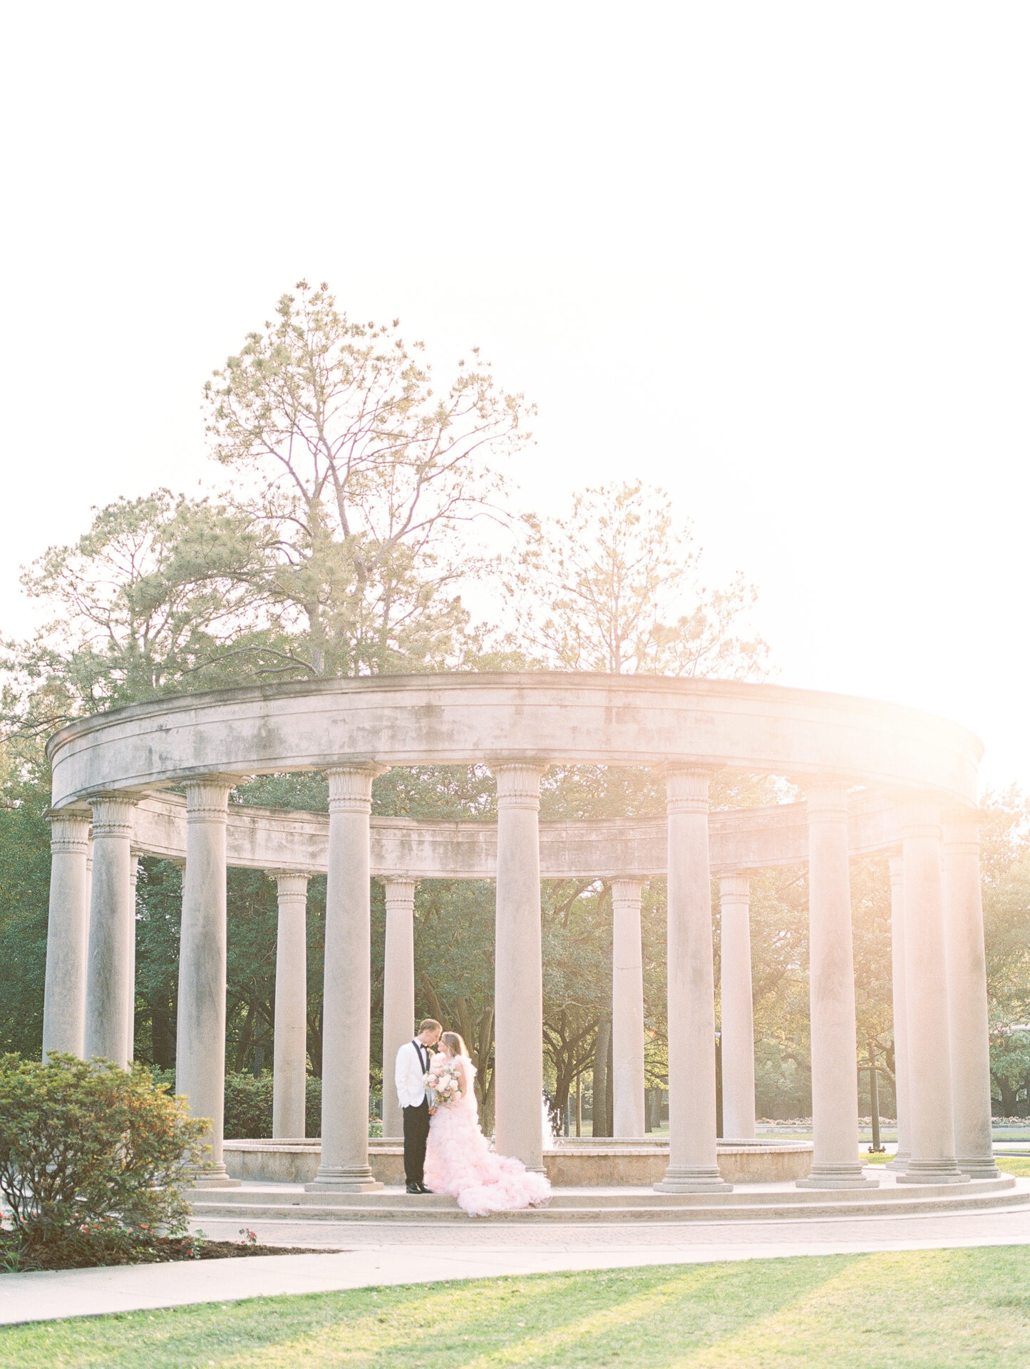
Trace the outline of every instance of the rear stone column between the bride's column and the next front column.
<instances>
[{"instance_id":1,"label":"rear stone column between the bride's column and the next front column","mask_svg":"<svg viewBox=\"0 0 1030 1369\"><path fill-rule=\"evenodd\" d=\"M642 890L642 879L611 882L611 1131L616 1136L644 1134Z\"/></svg>"}]
</instances>

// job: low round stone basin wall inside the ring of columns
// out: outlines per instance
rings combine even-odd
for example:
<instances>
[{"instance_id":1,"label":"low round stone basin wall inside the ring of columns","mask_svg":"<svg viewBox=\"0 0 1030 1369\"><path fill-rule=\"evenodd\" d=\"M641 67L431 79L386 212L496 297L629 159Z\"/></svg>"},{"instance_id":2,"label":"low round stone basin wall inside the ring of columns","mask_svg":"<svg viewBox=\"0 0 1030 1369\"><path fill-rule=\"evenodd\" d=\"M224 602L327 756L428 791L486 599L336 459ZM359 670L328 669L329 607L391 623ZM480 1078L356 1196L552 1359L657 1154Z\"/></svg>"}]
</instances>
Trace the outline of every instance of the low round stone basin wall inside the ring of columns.
<instances>
[{"instance_id":1,"label":"low round stone basin wall inside the ring of columns","mask_svg":"<svg viewBox=\"0 0 1030 1369\"><path fill-rule=\"evenodd\" d=\"M382 1184L404 1183L399 1140L371 1140L369 1165ZM810 1140L721 1140L719 1175L732 1184L781 1183L804 1179L811 1169ZM227 1140L226 1169L234 1179L257 1183L309 1184L319 1169L321 1142L313 1139ZM651 1187L665 1175L669 1142L584 1136L562 1138L543 1157L555 1188Z\"/></svg>"}]
</instances>

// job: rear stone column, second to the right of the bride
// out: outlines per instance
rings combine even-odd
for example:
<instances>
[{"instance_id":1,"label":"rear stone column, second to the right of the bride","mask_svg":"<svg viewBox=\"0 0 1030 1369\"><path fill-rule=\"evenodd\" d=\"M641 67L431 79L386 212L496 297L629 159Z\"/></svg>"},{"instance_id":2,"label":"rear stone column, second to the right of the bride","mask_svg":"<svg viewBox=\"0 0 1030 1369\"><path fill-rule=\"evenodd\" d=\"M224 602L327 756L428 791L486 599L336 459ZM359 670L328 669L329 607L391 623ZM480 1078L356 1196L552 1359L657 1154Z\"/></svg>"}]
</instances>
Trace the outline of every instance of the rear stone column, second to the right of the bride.
<instances>
[{"instance_id":1,"label":"rear stone column, second to the right of the bride","mask_svg":"<svg viewBox=\"0 0 1030 1369\"><path fill-rule=\"evenodd\" d=\"M724 875L722 910L722 1135L755 1135L755 1021L751 1002L751 880Z\"/></svg>"}]
</instances>

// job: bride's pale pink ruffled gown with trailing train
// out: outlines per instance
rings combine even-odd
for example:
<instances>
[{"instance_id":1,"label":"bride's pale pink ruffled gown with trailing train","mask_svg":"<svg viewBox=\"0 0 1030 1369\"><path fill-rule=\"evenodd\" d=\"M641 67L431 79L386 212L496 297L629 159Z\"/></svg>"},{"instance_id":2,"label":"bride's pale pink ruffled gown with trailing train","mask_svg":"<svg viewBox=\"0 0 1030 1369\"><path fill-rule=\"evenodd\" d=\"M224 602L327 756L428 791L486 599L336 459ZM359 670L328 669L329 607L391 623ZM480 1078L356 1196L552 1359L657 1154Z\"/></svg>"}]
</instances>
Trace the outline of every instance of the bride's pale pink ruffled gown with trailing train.
<instances>
[{"instance_id":1,"label":"bride's pale pink ruffled gown with trailing train","mask_svg":"<svg viewBox=\"0 0 1030 1369\"><path fill-rule=\"evenodd\" d=\"M435 1194L450 1194L469 1217L517 1207L540 1207L551 1197L543 1175L531 1173L521 1160L495 1155L479 1129L479 1109L472 1079L476 1066L458 1057L465 1068L464 1098L438 1108L430 1118L425 1144L425 1184Z\"/></svg>"}]
</instances>

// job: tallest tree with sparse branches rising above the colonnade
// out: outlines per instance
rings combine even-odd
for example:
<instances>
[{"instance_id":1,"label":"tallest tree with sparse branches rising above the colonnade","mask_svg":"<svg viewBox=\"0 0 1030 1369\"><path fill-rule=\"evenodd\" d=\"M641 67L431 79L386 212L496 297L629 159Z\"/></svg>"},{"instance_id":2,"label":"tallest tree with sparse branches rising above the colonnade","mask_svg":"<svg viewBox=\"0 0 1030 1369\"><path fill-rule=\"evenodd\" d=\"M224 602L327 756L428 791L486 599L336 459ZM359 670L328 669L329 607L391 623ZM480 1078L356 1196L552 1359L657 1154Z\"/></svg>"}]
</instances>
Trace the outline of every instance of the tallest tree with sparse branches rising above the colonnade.
<instances>
[{"instance_id":1,"label":"tallest tree with sparse branches rising above the colonnade","mask_svg":"<svg viewBox=\"0 0 1030 1369\"><path fill-rule=\"evenodd\" d=\"M305 281L208 382L208 431L268 530L269 602L312 672L439 668L466 627L455 586L481 560L468 524L501 517L501 465L529 409L477 349L436 390L399 323L358 323Z\"/></svg>"}]
</instances>

